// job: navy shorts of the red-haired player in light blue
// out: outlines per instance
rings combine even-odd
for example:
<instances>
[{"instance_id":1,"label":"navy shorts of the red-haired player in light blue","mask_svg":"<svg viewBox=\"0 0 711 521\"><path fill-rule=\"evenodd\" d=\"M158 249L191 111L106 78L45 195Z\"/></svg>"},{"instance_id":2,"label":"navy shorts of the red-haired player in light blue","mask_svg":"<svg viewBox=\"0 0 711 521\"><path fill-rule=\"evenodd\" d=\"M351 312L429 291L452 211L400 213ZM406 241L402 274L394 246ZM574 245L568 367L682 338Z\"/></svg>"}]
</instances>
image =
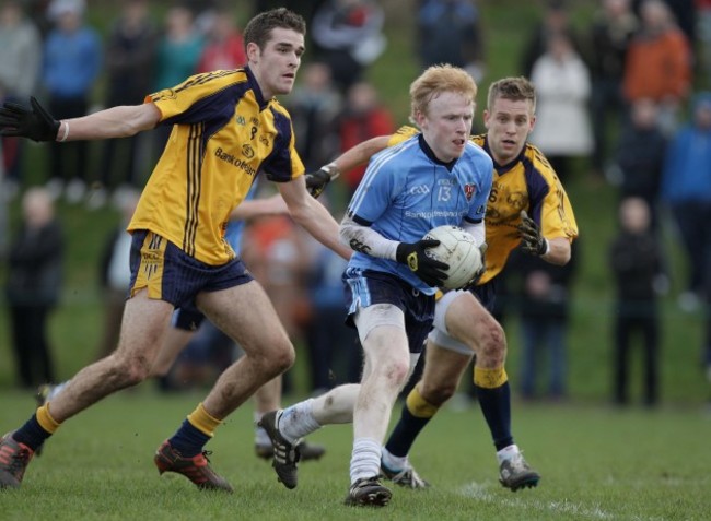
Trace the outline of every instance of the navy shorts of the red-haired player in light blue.
<instances>
[{"instance_id":1,"label":"navy shorts of the red-haired player in light blue","mask_svg":"<svg viewBox=\"0 0 711 521\"><path fill-rule=\"evenodd\" d=\"M421 353L434 320L434 295L424 295L401 279L373 270L348 268L346 283L346 323L353 324L358 307L392 304L405 313L405 331L410 353Z\"/></svg>"}]
</instances>

